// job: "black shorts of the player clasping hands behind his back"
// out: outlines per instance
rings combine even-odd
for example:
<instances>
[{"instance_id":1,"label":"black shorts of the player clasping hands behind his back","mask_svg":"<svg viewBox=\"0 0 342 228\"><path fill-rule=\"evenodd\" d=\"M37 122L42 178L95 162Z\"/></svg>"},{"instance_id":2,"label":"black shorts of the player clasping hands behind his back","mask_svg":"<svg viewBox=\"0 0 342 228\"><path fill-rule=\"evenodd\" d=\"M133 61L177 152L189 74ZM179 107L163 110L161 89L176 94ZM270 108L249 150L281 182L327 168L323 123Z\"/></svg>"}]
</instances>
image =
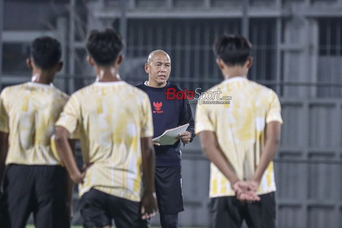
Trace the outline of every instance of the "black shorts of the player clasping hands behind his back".
<instances>
[{"instance_id":1,"label":"black shorts of the player clasping hands behind his back","mask_svg":"<svg viewBox=\"0 0 342 228\"><path fill-rule=\"evenodd\" d=\"M235 196L216 197L210 207L211 228L240 228L243 220L248 227L276 227L274 192L260 195L260 201L254 203L241 202Z\"/></svg>"}]
</instances>

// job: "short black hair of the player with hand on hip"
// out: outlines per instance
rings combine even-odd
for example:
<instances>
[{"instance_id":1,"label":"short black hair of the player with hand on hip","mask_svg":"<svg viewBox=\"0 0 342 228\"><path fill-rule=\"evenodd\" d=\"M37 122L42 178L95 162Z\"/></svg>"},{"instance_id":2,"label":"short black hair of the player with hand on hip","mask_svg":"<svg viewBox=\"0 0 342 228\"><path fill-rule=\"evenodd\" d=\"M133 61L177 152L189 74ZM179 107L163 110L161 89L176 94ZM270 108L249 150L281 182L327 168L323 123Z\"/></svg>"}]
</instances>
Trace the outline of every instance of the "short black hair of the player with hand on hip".
<instances>
[{"instance_id":1,"label":"short black hair of the player with hand on hip","mask_svg":"<svg viewBox=\"0 0 342 228\"><path fill-rule=\"evenodd\" d=\"M100 66L114 63L123 48L121 35L112 28L104 31L92 30L86 43L89 55Z\"/></svg>"}]
</instances>

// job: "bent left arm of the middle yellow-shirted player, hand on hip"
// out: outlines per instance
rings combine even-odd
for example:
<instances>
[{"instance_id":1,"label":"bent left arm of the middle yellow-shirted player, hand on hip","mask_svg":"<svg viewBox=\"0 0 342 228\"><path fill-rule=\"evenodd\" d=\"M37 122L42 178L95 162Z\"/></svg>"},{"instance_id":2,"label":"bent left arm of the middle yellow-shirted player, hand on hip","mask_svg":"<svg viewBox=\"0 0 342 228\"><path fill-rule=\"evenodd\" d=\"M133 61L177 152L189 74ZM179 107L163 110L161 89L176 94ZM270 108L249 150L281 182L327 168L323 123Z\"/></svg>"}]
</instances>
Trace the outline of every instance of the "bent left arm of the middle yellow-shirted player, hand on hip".
<instances>
[{"instance_id":1,"label":"bent left arm of the middle yellow-shirted player, hand on hip","mask_svg":"<svg viewBox=\"0 0 342 228\"><path fill-rule=\"evenodd\" d=\"M56 127L55 144L58 155L64 163L71 180L75 183L81 183L85 178L85 170L83 172L80 172L80 170L77 167L74 154L68 142L69 136L70 133L66 128L62 126Z\"/></svg>"}]
</instances>

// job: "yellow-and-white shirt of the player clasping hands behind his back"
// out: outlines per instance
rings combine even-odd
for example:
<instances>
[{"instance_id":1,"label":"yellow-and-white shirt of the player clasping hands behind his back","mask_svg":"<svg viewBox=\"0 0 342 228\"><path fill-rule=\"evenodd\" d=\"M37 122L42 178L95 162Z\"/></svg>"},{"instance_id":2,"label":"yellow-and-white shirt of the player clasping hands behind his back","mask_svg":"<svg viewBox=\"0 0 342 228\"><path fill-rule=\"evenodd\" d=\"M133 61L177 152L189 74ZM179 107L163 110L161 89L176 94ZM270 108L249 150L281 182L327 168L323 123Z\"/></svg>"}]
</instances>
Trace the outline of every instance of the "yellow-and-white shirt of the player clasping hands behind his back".
<instances>
[{"instance_id":1,"label":"yellow-and-white shirt of the player clasping hands behind his back","mask_svg":"<svg viewBox=\"0 0 342 228\"><path fill-rule=\"evenodd\" d=\"M229 97L230 104L201 104L196 107L195 133L214 132L224 155L240 180L251 180L264 147L265 125L282 123L277 94L244 77L224 80L208 91ZM216 98L217 100L217 98ZM228 179L211 163L210 197L234 196ZM273 162L264 172L257 194L276 191Z\"/></svg>"}]
</instances>

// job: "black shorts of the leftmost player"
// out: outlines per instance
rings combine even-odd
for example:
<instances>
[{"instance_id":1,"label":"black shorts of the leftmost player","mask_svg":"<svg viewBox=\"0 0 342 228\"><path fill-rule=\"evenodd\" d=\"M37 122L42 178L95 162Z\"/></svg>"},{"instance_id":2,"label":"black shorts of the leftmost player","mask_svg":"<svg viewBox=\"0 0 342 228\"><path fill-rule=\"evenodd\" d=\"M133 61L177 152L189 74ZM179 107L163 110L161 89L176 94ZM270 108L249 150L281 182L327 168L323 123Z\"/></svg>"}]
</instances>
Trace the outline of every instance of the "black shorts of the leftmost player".
<instances>
[{"instance_id":1,"label":"black shorts of the leftmost player","mask_svg":"<svg viewBox=\"0 0 342 228\"><path fill-rule=\"evenodd\" d=\"M36 228L70 228L66 183L66 170L59 165L8 165L0 203L1 227L25 228L33 212Z\"/></svg>"}]
</instances>

